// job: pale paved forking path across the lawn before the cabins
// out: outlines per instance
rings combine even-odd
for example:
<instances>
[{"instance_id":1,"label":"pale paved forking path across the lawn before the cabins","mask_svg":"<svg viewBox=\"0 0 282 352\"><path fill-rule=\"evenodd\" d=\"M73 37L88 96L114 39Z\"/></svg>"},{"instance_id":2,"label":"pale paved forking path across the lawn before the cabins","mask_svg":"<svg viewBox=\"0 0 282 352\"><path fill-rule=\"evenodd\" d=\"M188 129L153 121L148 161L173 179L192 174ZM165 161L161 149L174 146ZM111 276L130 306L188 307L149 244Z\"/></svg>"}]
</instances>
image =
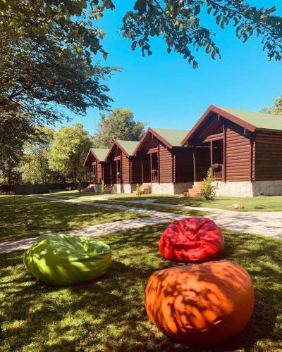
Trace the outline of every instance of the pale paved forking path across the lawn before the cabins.
<instances>
[{"instance_id":1,"label":"pale paved forking path across the lawn before the cabins","mask_svg":"<svg viewBox=\"0 0 282 352\"><path fill-rule=\"evenodd\" d=\"M38 196L41 197L41 196ZM45 198L45 197L44 197ZM68 233L73 234L84 234L85 236L98 236L99 234L107 234L117 231L125 231L130 229L136 229L139 227L161 224L164 222L170 222L172 220L180 220L183 218L188 218L188 215L180 215L176 213L168 213L157 210L149 210L136 208L134 206L121 206L118 204L105 204L105 203L94 203L90 201L75 201L74 199L59 199L54 196L48 196L48 199L54 201L61 201L66 203L75 203L84 206L95 206L99 208L112 208L123 211L132 211L135 213L142 213L150 215L149 218L137 218L131 220L123 220L116 222L109 222L101 225L93 225L86 227L85 229L72 230ZM92 199L89 197L89 199ZM110 200L110 199L108 199ZM111 199L111 201L115 201ZM116 200L120 201L121 200ZM192 207L192 206L180 206L174 204L166 203L156 203L152 200L136 200L136 201L127 201L126 203L141 203L141 204L152 204L154 206L165 206L166 208L185 208L192 210L202 210L208 211L210 215L208 217L211 220L214 220L219 227L223 227L229 230L235 230L238 232L247 232L250 234L264 234L269 237L276 237L282 239L282 212L273 211L273 212L239 212L215 208L202 208L202 207ZM20 239L18 241L5 241L0 242L0 253L7 253L11 251L18 251L22 249L27 249L32 243L37 241L39 237L32 237L30 239Z\"/></svg>"}]
</instances>

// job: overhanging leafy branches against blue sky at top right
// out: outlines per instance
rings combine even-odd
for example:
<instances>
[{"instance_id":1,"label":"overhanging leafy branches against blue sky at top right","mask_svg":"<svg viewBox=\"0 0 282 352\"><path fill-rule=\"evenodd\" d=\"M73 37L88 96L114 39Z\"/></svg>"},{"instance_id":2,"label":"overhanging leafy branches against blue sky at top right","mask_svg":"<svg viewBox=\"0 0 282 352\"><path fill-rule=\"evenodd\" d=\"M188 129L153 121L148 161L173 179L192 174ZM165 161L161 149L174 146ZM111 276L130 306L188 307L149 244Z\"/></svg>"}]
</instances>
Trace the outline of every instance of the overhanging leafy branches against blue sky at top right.
<instances>
[{"instance_id":1,"label":"overhanging leafy branches against blue sky at top right","mask_svg":"<svg viewBox=\"0 0 282 352\"><path fill-rule=\"evenodd\" d=\"M274 6L256 8L245 0L137 0L134 10L125 14L121 31L133 41L132 49L140 46L143 55L152 54L150 37L161 35L168 53L174 49L197 68L193 52L201 48L212 58L220 57L214 33L202 25L207 13L222 29L233 25L243 42L253 34L261 37L269 59L281 60L282 17L274 11Z\"/></svg>"}]
</instances>

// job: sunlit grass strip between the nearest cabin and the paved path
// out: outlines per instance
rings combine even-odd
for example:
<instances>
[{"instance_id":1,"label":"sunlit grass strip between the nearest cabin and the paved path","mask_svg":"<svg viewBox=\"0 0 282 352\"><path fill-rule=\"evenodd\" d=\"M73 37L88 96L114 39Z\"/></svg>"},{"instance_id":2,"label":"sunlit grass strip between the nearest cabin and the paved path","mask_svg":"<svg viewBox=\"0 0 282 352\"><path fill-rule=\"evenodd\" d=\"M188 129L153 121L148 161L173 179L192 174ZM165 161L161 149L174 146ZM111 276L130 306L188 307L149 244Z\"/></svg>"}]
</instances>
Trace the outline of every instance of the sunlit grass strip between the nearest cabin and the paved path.
<instances>
[{"instance_id":1,"label":"sunlit grass strip between the nearest cabin and the paved path","mask_svg":"<svg viewBox=\"0 0 282 352\"><path fill-rule=\"evenodd\" d=\"M180 206L202 206L226 210L234 210L232 208L233 204L243 203L244 209L240 211L282 211L282 196L257 196L253 198L217 196L214 201L205 201L202 197L189 198L174 196L161 199L161 203L179 204Z\"/></svg>"}]
</instances>

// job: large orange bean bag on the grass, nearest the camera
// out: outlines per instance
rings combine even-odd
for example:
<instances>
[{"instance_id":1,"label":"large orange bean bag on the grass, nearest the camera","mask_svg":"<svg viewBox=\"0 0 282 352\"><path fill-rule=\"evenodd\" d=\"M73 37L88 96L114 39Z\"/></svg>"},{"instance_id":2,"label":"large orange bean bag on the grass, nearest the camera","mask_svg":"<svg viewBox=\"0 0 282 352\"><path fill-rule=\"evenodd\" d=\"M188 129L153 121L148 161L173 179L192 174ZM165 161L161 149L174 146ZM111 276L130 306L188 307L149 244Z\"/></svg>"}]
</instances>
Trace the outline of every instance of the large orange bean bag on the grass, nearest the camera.
<instances>
[{"instance_id":1,"label":"large orange bean bag on the grass, nearest the camera","mask_svg":"<svg viewBox=\"0 0 282 352\"><path fill-rule=\"evenodd\" d=\"M145 291L149 319L183 344L231 337L250 320L254 289L247 271L231 261L156 271Z\"/></svg>"}]
</instances>

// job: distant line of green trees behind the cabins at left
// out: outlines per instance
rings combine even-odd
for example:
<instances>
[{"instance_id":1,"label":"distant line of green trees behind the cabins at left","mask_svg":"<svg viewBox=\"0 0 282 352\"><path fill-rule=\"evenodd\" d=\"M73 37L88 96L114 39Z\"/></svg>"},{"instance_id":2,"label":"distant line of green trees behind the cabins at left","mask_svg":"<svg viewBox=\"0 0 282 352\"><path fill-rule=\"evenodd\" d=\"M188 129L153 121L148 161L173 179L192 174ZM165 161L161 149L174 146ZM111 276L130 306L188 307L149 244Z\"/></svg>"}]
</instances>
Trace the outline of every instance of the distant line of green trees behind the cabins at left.
<instances>
[{"instance_id":1,"label":"distant line of green trees behind the cabins at left","mask_svg":"<svg viewBox=\"0 0 282 352\"><path fill-rule=\"evenodd\" d=\"M86 181L82 168L91 146L109 147L114 139L138 140L145 124L135 122L133 111L116 108L109 115L101 114L93 137L80 123L63 126L58 131L37 126L37 134L17 146L17 156L0 170L0 184L50 184Z\"/></svg>"}]
</instances>

